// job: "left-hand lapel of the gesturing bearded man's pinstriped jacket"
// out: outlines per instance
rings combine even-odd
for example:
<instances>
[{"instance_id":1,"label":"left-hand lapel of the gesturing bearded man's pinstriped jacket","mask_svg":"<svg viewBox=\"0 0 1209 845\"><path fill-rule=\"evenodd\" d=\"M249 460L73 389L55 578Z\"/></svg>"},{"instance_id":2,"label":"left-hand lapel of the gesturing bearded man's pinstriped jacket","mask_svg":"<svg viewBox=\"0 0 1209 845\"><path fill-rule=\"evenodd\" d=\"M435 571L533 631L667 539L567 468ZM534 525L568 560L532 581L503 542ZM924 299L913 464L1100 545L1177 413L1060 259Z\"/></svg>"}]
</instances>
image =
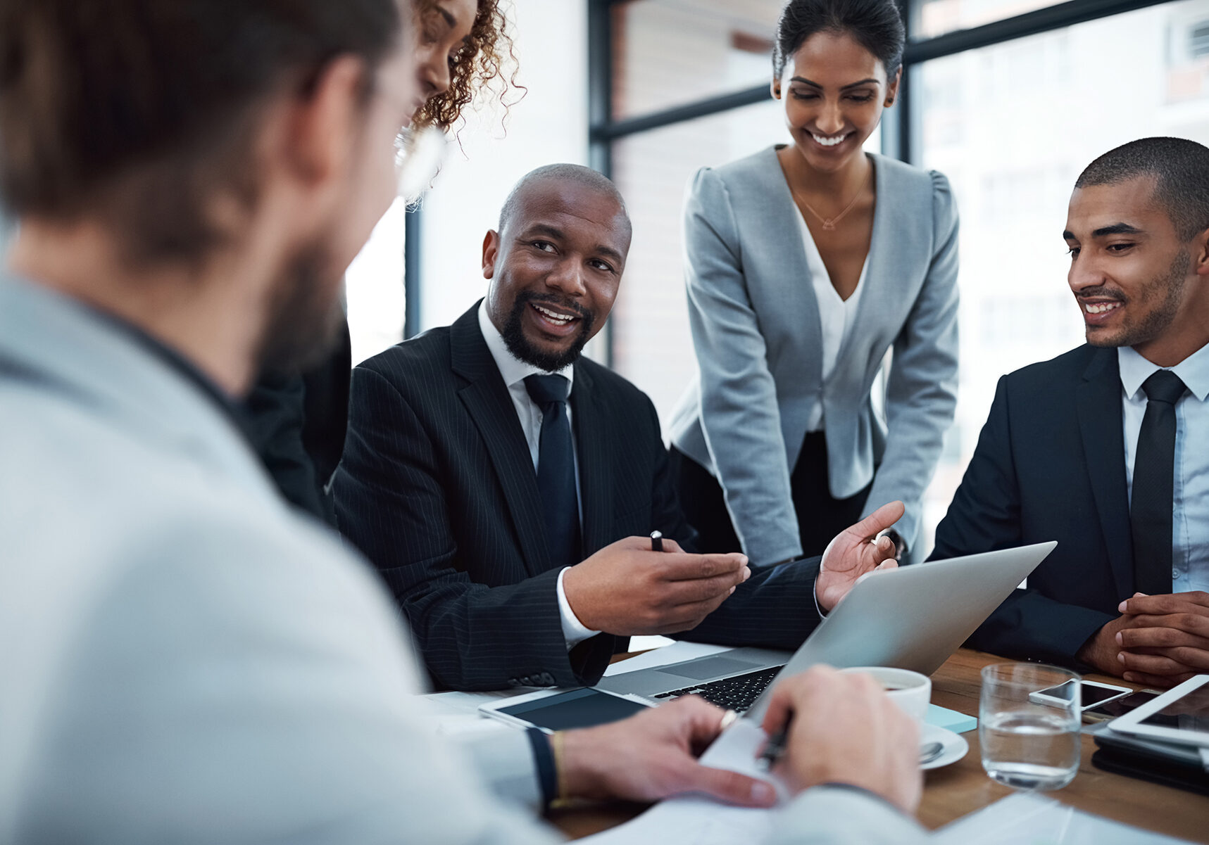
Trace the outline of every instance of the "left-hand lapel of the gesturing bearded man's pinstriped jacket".
<instances>
[{"instance_id":1,"label":"left-hand lapel of the gesturing bearded man's pinstriped jacket","mask_svg":"<svg viewBox=\"0 0 1209 845\"><path fill-rule=\"evenodd\" d=\"M553 566L553 561L545 542L537 473L516 418L516 406L479 330L478 303L450 326L450 353L453 372L469 382L458 390L458 398L491 456L516 527L525 568L531 575L540 574Z\"/></svg>"}]
</instances>

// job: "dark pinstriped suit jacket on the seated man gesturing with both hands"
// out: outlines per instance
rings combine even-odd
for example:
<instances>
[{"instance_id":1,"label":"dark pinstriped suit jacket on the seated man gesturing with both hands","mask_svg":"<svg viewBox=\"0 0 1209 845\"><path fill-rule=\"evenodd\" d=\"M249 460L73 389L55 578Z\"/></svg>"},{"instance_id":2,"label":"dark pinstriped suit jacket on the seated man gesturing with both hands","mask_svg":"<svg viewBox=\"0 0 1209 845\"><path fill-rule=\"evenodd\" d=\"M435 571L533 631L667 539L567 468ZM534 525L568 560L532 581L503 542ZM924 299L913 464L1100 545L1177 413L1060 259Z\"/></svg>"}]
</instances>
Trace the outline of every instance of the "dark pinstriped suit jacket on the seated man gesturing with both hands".
<instances>
[{"instance_id":1,"label":"dark pinstriped suit jacket on the seated man gesturing with both hands","mask_svg":"<svg viewBox=\"0 0 1209 845\"><path fill-rule=\"evenodd\" d=\"M438 687L596 683L618 638L567 653L537 474L476 309L354 370L340 528L394 594ZM656 528L689 544L646 394L580 359L571 406L584 555ZM753 573L692 638L796 647L818 623L816 573L817 558Z\"/></svg>"}]
</instances>

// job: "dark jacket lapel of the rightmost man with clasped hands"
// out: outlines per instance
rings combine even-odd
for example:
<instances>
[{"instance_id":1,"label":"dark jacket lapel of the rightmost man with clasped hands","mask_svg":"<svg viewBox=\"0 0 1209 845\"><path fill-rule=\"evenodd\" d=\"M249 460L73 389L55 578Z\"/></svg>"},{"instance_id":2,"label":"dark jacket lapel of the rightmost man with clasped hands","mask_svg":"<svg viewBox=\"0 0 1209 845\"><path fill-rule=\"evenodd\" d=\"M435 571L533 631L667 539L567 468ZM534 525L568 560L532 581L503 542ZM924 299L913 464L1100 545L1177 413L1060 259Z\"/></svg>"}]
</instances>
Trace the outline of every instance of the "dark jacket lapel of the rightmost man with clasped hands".
<instances>
[{"instance_id":1,"label":"dark jacket lapel of the rightmost man with clasped hands","mask_svg":"<svg viewBox=\"0 0 1209 845\"><path fill-rule=\"evenodd\" d=\"M1109 563L1122 597L1133 592L1133 537L1126 491L1126 447L1121 421L1121 377L1116 349L1098 349L1076 388L1083 456L1100 515Z\"/></svg>"}]
</instances>

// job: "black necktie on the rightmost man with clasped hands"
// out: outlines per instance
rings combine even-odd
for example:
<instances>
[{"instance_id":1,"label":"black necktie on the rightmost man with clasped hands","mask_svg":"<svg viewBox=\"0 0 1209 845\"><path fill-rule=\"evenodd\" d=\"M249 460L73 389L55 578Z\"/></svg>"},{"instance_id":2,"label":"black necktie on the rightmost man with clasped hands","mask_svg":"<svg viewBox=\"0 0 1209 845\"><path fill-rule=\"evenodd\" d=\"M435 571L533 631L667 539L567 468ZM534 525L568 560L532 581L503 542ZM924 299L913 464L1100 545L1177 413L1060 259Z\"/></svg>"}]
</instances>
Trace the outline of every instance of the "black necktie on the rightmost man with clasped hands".
<instances>
[{"instance_id":1,"label":"black necktie on the rightmost man with clasped hands","mask_svg":"<svg viewBox=\"0 0 1209 845\"><path fill-rule=\"evenodd\" d=\"M1146 416L1138 434L1129 523L1134 538L1134 589L1172 591L1172 508L1175 499L1175 403L1184 382L1159 370L1143 382Z\"/></svg>"}]
</instances>

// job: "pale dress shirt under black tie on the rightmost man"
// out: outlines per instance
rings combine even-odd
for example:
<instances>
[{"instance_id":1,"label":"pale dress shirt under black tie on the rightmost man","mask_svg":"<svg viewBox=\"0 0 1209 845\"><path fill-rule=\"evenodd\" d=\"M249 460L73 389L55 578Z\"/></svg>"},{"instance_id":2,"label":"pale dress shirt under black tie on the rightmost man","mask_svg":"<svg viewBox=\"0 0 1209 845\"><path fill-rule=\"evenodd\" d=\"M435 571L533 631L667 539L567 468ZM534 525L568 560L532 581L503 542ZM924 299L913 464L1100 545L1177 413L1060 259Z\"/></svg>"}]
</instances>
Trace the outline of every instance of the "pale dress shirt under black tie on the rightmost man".
<instances>
[{"instance_id":1,"label":"pale dress shirt under black tie on the rightmost man","mask_svg":"<svg viewBox=\"0 0 1209 845\"><path fill-rule=\"evenodd\" d=\"M1117 349L1124 409L1126 484L1133 497L1133 465L1146 413L1141 383L1164 367L1132 347ZM1172 591L1209 590L1209 345L1169 369L1187 392L1175 403L1175 478L1172 503Z\"/></svg>"}]
</instances>

